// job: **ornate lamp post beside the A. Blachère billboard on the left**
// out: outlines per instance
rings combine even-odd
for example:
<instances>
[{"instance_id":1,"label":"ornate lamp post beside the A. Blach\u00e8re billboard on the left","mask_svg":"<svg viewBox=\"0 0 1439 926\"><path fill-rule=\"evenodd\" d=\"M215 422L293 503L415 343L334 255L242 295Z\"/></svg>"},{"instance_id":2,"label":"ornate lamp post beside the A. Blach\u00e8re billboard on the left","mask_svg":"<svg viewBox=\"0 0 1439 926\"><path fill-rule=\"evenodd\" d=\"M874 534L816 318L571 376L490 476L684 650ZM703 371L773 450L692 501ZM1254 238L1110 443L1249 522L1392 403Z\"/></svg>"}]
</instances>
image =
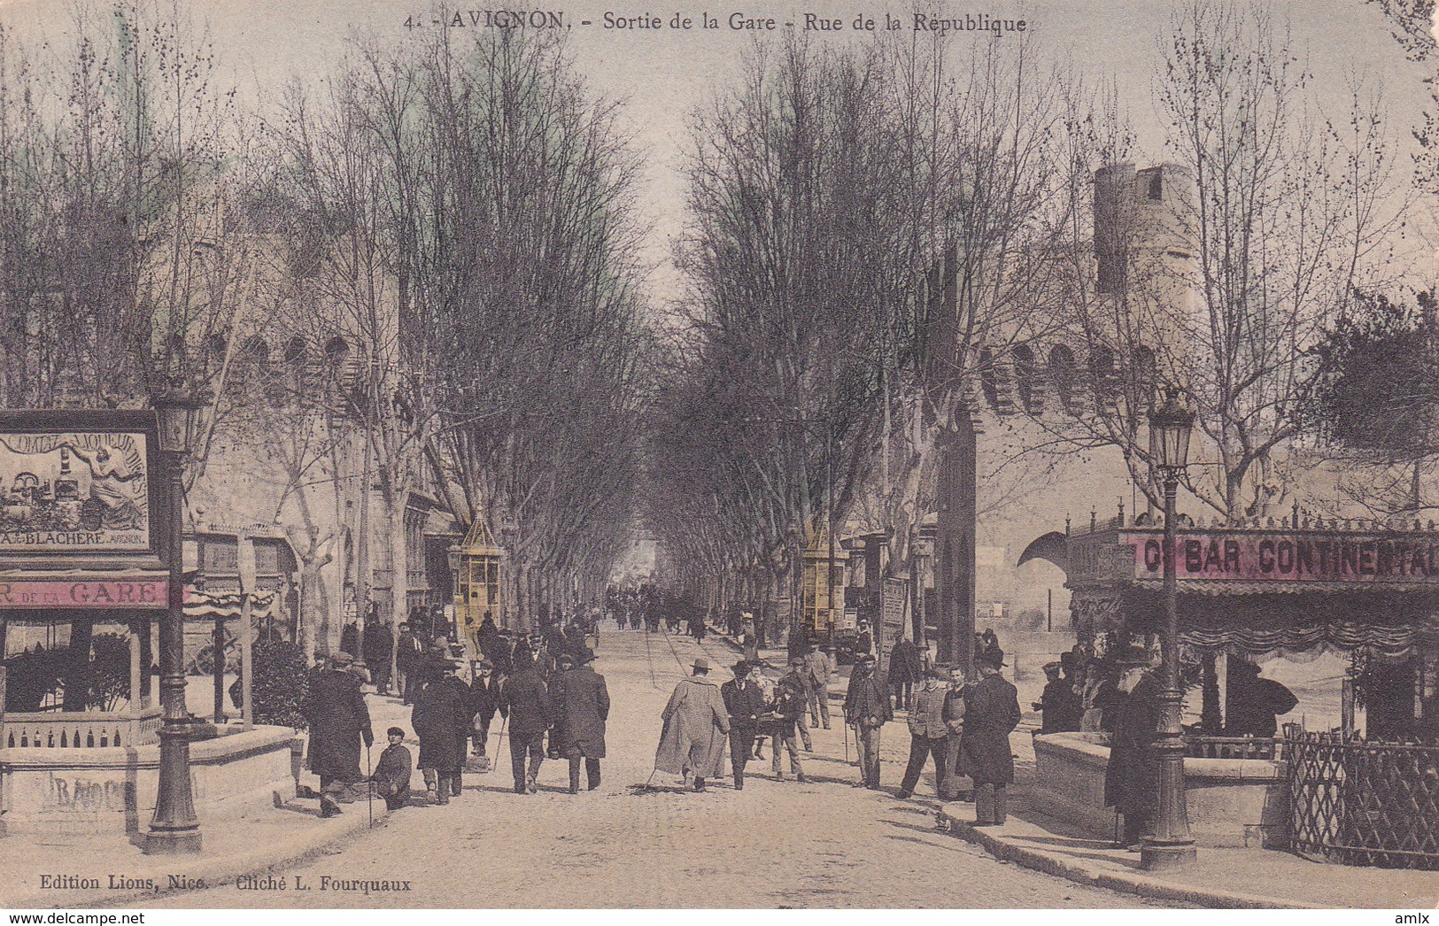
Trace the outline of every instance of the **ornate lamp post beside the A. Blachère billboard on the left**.
<instances>
[{"instance_id":1,"label":"ornate lamp post beside the A. Blach\u00e8re billboard on the left","mask_svg":"<svg viewBox=\"0 0 1439 926\"><path fill-rule=\"evenodd\" d=\"M170 388L154 397L160 426L160 453L165 463L170 556L170 607L160 623L160 792L155 815L145 834L145 854L177 856L200 851L200 821L190 792L190 713L184 700L184 525L180 496L184 492L184 459L194 449L200 413L209 394Z\"/></svg>"}]
</instances>

